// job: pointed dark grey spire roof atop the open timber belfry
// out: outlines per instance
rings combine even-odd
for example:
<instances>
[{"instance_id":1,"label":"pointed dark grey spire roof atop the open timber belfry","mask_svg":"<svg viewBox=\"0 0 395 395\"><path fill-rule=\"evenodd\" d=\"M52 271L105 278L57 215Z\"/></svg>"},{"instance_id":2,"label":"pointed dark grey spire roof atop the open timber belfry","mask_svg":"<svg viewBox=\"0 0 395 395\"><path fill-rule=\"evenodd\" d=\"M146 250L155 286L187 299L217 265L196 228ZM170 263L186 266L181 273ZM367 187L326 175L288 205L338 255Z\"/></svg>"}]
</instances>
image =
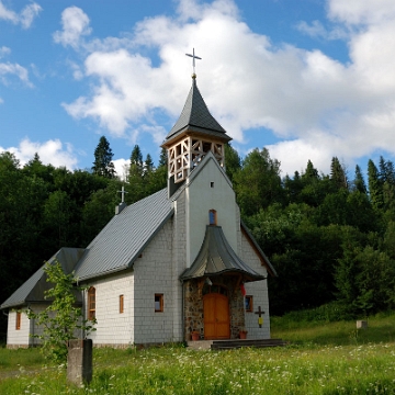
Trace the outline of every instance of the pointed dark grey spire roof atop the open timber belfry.
<instances>
[{"instance_id":1,"label":"pointed dark grey spire roof atop the open timber belfry","mask_svg":"<svg viewBox=\"0 0 395 395\"><path fill-rule=\"evenodd\" d=\"M214 133L214 135L217 137L221 136L222 138L226 138L228 140L232 139L226 135L225 129L210 113L207 105L198 89L195 78L192 79L192 87L188 94L181 115L167 135L165 142L173 138L179 134L179 132L193 127L196 128L196 132L208 135Z\"/></svg>"}]
</instances>

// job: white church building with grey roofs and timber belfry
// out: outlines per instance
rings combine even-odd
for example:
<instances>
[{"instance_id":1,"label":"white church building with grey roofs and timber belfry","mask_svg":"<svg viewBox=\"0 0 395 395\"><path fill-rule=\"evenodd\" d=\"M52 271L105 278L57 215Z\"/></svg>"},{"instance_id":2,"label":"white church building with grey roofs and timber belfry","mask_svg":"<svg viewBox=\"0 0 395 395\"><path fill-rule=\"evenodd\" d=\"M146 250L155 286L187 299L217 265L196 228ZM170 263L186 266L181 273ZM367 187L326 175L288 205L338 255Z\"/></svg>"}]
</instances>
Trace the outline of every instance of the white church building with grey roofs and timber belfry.
<instances>
[{"instance_id":1,"label":"white church building with grey roofs and timber belfry","mask_svg":"<svg viewBox=\"0 0 395 395\"><path fill-rule=\"evenodd\" d=\"M162 147L168 187L132 205L124 202L87 248L61 248L50 260L76 273L95 346L127 347L191 339L270 338L268 275L276 275L240 219L225 173L230 140L192 87ZM47 306L52 285L41 268L5 302L9 348L38 342L23 309ZM259 319L264 312L263 320ZM81 334L83 336L83 334Z\"/></svg>"}]
</instances>

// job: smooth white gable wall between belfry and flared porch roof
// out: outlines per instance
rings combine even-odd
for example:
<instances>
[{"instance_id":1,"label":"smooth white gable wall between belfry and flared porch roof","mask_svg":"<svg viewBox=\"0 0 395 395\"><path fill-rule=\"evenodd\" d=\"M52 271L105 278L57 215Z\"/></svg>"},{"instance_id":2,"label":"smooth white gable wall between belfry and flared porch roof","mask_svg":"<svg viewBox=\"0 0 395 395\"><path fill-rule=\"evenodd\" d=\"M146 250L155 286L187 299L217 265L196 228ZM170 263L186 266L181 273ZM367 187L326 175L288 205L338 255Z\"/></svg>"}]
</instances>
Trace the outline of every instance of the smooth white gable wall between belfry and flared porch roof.
<instances>
[{"instance_id":1,"label":"smooth white gable wall between belfry and flared porch roof","mask_svg":"<svg viewBox=\"0 0 395 395\"><path fill-rule=\"evenodd\" d=\"M198 177L187 188L187 266L190 267L202 246L208 212L217 212L217 225L222 226L232 248L237 251L238 207L235 192L227 177L221 171L215 159L207 160ZM189 182L189 180L187 180ZM212 188L214 183L214 188Z\"/></svg>"}]
</instances>

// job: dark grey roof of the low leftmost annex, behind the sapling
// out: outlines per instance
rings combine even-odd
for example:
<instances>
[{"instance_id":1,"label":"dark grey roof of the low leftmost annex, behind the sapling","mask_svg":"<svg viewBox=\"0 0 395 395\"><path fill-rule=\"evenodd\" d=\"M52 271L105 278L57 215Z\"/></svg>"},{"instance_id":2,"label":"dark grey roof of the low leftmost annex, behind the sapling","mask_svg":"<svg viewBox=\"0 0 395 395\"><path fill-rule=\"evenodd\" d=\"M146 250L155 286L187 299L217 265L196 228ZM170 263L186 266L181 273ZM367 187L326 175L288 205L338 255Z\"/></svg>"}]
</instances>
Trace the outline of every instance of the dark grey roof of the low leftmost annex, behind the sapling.
<instances>
[{"instance_id":1,"label":"dark grey roof of the low leftmost annex, behind the sapling","mask_svg":"<svg viewBox=\"0 0 395 395\"><path fill-rule=\"evenodd\" d=\"M81 258L83 248L68 248L64 247L57 251L48 263L54 263L56 260L61 264L65 273L70 273L77 261ZM46 281L44 266L42 266L26 282L24 282L1 306L0 308L10 308L29 303L45 302L44 292L49 290L53 284ZM79 295L78 301L81 301Z\"/></svg>"}]
</instances>

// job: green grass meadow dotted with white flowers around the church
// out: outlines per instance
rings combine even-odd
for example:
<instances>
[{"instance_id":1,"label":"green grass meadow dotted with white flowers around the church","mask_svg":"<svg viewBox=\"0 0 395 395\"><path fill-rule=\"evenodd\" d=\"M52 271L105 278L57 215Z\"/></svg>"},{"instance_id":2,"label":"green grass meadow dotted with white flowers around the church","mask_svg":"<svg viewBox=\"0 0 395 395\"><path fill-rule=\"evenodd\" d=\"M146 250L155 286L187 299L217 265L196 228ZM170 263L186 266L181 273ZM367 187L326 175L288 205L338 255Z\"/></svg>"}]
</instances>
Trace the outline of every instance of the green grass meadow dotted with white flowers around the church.
<instances>
[{"instance_id":1,"label":"green grass meadow dotted with white flowers around the church","mask_svg":"<svg viewBox=\"0 0 395 395\"><path fill-rule=\"evenodd\" d=\"M395 394L395 315L356 321L272 318L289 346L193 351L181 345L94 349L93 381L76 387L37 349L0 349L0 394Z\"/></svg>"}]
</instances>

